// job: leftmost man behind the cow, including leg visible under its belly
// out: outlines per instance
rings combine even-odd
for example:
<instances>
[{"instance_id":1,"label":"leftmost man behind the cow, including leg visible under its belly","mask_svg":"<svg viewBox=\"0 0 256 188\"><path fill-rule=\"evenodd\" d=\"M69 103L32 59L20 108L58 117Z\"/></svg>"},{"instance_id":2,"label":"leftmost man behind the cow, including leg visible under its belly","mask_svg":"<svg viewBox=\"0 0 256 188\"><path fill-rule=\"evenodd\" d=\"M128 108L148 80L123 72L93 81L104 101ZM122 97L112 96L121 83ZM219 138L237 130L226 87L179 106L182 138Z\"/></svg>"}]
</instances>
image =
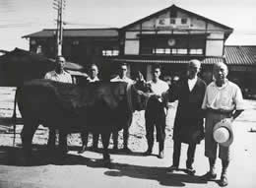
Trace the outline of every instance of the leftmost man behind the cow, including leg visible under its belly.
<instances>
[{"instance_id":1,"label":"leftmost man behind the cow, including leg visible under its belly","mask_svg":"<svg viewBox=\"0 0 256 188\"><path fill-rule=\"evenodd\" d=\"M61 83L70 83L72 84L72 77L71 75L64 70L66 60L63 56L57 56L56 57L56 67L55 70L50 71L45 74L44 79L49 79L56 82ZM48 147L52 148L55 146L55 140L56 140L56 130L50 129L49 130L49 140L48 140Z\"/></svg>"}]
</instances>

